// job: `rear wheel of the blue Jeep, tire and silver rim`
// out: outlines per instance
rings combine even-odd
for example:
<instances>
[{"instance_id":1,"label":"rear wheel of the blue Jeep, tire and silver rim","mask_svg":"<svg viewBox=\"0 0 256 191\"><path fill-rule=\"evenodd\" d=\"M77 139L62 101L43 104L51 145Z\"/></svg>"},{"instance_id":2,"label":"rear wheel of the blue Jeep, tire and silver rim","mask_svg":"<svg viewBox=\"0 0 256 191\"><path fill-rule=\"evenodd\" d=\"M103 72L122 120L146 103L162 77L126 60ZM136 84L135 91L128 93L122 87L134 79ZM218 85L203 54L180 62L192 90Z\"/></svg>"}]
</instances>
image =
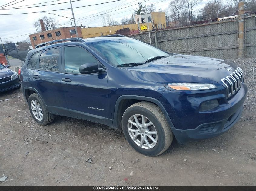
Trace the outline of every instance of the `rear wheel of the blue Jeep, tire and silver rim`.
<instances>
[{"instance_id":1,"label":"rear wheel of the blue Jeep, tire and silver rim","mask_svg":"<svg viewBox=\"0 0 256 191\"><path fill-rule=\"evenodd\" d=\"M34 107L33 107L33 106ZM36 107L35 106L39 106ZM35 121L39 124L39 125L48 125L49 123L52 123L54 120L54 115L49 113L48 110L46 109L46 106L44 104L44 102L42 101L42 99L38 96L37 93L31 94L28 97L28 107L29 107L29 111L32 115L32 117L35 119ZM33 111L32 111L33 110ZM34 114L34 113L38 113Z\"/></svg>"}]
</instances>

